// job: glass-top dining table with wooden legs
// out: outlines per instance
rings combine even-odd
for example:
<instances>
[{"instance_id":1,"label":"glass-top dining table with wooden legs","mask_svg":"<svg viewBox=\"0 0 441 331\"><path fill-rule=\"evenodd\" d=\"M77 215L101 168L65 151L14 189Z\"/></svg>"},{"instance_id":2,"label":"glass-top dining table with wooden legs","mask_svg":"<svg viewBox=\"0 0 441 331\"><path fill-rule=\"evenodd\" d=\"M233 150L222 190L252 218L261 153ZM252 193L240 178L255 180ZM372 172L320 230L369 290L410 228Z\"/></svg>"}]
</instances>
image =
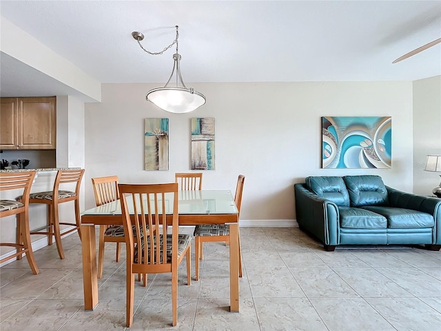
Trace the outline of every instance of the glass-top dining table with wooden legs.
<instances>
[{"instance_id":1,"label":"glass-top dining table with wooden legs","mask_svg":"<svg viewBox=\"0 0 441 331\"><path fill-rule=\"evenodd\" d=\"M128 200L127 200L128 201ZM166 212L172 212L173 203L167 203ZM133 205L129 207L133 212ZM178 191L179 225L229 225L229 282L230 311L239 311L238 210L229 190ZM96 272L96 237L94 225L122 225L119 200L105 203L81 212L81 244L83 253L83 288L85 310L94 310L99 304Z\"/></svg>"}]
</instances>

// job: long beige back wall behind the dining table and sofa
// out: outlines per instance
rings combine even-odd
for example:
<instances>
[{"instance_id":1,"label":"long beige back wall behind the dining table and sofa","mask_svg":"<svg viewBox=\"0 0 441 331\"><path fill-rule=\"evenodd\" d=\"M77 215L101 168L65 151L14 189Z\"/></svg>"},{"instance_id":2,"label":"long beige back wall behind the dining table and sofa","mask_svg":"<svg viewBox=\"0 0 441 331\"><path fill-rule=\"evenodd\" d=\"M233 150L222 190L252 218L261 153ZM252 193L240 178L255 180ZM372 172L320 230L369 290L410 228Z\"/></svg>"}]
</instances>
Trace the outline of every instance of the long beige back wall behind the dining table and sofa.
<instances>
[{"instance_id":1,"label":"long beige back wall behind the dining table and sofa","mask_svg":"<svg viewBox=\"0 0 441 331\"><path fill-rule=\"evenodd\" d=\"M85 104L85 207L94 205L91 177L117 174L121 182L174 181L189 170L190 118L216 118L216 170L205 189L234 190L245 174L241 219L295 219L293 184L309 175L379 174L387 185L412 190L411 82L291 82L189 84L207 104L170 114L145 101L157 87L103 84L102 102ZM391 116L391 169L323 170L322 116ZM143 121L170 119L170 170L145 171ZM429 120L429 119L428 119ZM410 134L409 134L410 132Z\"/></svg>"}]
</instances>

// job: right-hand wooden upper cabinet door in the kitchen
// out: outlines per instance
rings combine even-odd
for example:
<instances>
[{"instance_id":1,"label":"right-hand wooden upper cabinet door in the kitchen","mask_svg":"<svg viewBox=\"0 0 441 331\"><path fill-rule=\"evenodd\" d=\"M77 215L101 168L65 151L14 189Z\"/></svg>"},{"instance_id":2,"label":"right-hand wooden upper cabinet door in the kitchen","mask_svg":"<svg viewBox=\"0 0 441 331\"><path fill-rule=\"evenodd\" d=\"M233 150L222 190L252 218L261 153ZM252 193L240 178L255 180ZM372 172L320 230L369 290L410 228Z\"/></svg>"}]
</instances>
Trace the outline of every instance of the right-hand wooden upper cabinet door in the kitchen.
<instances>
[{"instance_id":1,"label":"right-hand wooden upper cabinet door in the kitchen","mask_svg":"<svg viewBox=\"0 0 441 331\"><path fill-rule=\"evenodd\" d=\"M19 98L18 145L26 150L52 150L57 141L56 98Z\"/></svg>"}]
</instances>

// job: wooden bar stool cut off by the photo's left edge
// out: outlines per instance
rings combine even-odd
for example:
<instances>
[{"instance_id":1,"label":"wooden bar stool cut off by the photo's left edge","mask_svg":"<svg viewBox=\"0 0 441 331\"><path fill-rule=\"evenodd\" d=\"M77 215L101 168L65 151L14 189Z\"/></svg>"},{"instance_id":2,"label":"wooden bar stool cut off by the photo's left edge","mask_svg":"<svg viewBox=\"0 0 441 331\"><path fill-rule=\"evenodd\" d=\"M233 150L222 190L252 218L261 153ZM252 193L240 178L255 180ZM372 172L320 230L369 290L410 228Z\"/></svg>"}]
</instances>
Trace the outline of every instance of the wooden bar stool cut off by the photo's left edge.
<instances>
[{"instance_id":1,"label":"wooden bar stool cut off by the photo's left edge","mask_svg":"<svg viewBox=\"0 0 441 331\"><path fill-rule=\"evenodd\" d=\"M35 171L26 172L1 172L0 191L19 190L21 201L0 200L0 219L17 215L17 240L15 243L0 243L0 246L17 248L17 252L0 260L0 263L14 258L20 258L26 254L29 266L34 274L39 274L39 268L35 261L29 230L29 193L35 178Z\"/></svg>"}]
</instances>

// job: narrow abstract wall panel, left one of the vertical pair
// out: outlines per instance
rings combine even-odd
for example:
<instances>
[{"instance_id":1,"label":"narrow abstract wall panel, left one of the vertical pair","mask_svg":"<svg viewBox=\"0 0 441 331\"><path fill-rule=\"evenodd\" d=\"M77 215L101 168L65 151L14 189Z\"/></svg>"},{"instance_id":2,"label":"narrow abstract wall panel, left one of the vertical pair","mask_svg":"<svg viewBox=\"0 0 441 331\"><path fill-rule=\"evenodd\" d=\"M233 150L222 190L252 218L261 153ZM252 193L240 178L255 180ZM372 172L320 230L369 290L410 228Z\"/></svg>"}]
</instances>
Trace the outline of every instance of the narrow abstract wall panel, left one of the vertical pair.
<instances>
[{"instance_id":1,"label":"narrow abstract wall panel, left one of the vertical pair","mask_svg":"<svg viewBox=\"0 0 441 331\"><path fill-rule=\"evenodd\" d=\"M168 119L145 119L145 170L168 170Z\"/></svg>"}]
</instances>

